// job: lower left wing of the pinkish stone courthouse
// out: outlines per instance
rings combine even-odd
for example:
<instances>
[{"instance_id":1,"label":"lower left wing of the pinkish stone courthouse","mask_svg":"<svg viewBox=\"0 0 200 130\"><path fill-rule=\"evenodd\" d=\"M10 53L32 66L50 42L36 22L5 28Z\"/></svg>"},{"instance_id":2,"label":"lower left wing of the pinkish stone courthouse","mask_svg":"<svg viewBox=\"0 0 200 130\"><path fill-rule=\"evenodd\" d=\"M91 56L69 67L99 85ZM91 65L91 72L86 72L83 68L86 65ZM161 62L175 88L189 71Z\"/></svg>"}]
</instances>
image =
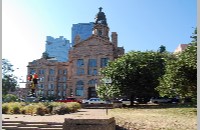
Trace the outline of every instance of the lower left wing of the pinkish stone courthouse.
<instances>
[{"instance_id":1,"label":"lower left wing of the pinkish stone courthouse","mask_svg":"<svg viewBox=\"0 0 200 130\"><path fill-rule=\"evenodd\" d=\"M69 96L68 62L57 62L54 58L43 56L41 59L29 62L27 67L28 74L38 74L37 96L56 98ZM26 84L26 88L30 88L30 83Z\"/></svg>"}]
</instances>

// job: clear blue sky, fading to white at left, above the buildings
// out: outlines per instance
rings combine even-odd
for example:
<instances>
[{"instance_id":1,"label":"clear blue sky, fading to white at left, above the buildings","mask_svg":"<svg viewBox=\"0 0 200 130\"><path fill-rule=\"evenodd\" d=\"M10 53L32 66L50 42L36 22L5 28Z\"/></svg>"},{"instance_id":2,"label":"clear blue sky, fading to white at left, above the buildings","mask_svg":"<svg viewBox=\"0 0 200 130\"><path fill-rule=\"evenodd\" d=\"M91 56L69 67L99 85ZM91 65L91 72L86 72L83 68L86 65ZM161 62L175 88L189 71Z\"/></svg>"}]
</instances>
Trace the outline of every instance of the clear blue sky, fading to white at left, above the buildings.
<instances>
[{"instance_id":1,"label":"clear blue sky, fading to white at left, above the buildings","mask_svg":"<svg viewBox=\"0 0 200 130\"><path fill-rule=\"evenodd\" d=\"M94 22L99 7L125 52L161 45L173 52L191 41L197 26L196 0L3 0L2 58L25 80L28 62L45 51L46 36L71 41L72 24Z\"/></svg>"}]
</instances>

